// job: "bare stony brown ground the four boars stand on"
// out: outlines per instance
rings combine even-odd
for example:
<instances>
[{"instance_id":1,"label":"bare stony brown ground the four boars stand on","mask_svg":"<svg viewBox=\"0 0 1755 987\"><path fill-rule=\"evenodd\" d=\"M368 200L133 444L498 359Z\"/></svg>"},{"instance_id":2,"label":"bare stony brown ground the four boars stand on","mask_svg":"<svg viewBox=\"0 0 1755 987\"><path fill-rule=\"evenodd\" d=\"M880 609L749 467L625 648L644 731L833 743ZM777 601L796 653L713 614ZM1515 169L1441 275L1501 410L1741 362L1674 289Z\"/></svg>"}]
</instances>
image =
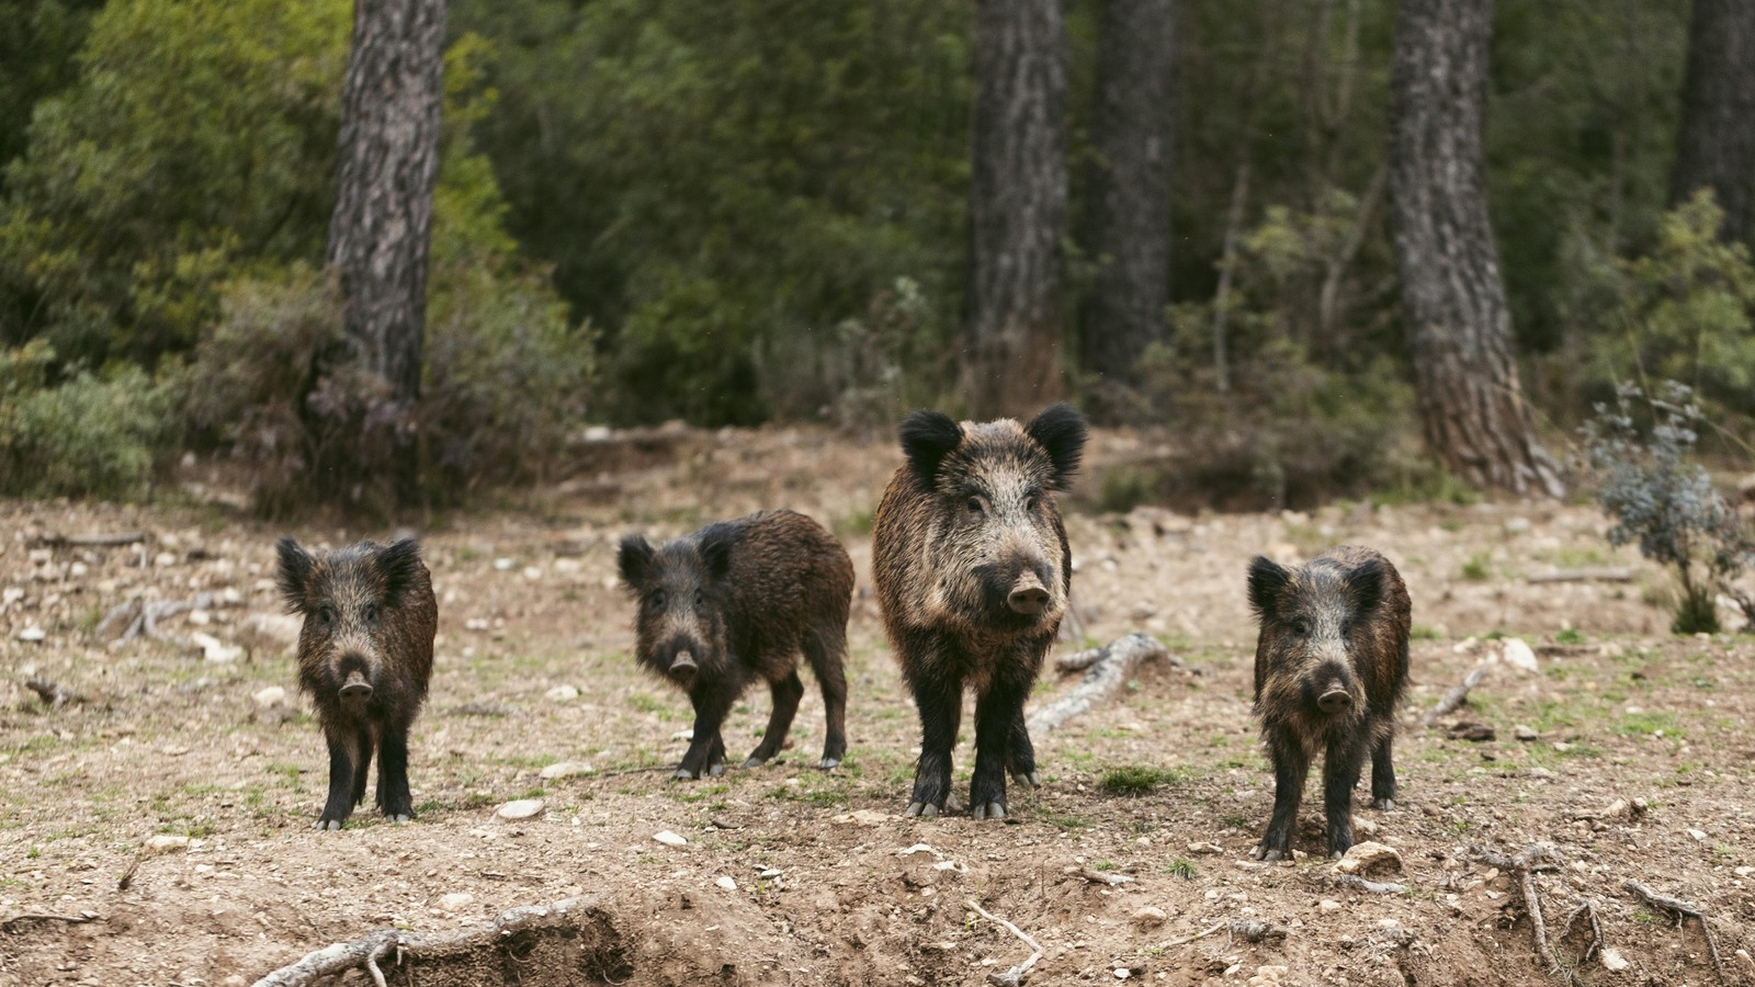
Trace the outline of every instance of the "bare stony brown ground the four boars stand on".
<instances>
[{"instance_id":1,"label":"bare stony brown ground the four boars stand on","mask_svg":"<svg viewBox=\"0 0 1755 987\"><path fill-rule=\"evenodd\" d=\"M1095 436L1081 483L1146 444ZM1755 638L1667 634L1667 576L1609 550L1588 506L1113 515L1076 494L1081 625L1058 652L1143 630L1179 664L1143 666L1037 736L1044 785L1014 787L1004 822L911 820L916 720L869 581L893 446L811 430L600 446L565 483L414 532L441 599L418 818L363 806L340 832L312 829L326 759L293 692L272 543L393 532L263 525L195 474L153 508L0 502L0 983L232 987L376 929L432 940L562 899L565 922L390 952L384 978L988 983L1039 947L1037 985L1755 983ZM767 506L820 518L855 558L851 752L811 767L807 680L781 762L672 782L690 713L628 657L616 539ZM65 541L130 532L146 541ZM1311 801L1297 861L1250 857L1272 778L1250 720L1244 566L1336 543L1381 548L1415 599L1402 799L1357 806L1395 852L1365 875L1390 890L1337 876ZM1423 724L1481 664L1467 704ZM1044 671L1034 702L1071 687ZM748 694L732 746L755 746L765 717L765 690ZM963 787L971 755L965 729ZM521 799L541 808L498 815ZM1560 971L1537 955L1523 871L1481 859L1530 847Z\"/></svg>"}]
</instances>

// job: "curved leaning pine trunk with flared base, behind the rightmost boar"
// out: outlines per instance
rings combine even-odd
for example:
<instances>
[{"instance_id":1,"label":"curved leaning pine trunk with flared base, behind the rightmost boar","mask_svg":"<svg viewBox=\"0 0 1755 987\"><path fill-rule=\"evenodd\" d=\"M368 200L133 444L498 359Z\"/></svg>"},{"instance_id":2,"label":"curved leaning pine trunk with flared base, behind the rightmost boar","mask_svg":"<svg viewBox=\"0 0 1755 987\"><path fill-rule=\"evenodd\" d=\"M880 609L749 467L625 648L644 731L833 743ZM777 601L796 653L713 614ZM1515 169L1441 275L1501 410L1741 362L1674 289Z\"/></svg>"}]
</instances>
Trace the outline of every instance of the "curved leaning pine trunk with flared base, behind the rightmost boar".
<instances>
[{"instance_id":1,"label":"curved leaning pine trunk with flared base, behind the rightmost boar","mask_svg":"<svg viewBox=\"0 0 1755 987\"><path fill-rule=\"evenodd\" d=\"M1486 216L1481 128L1492 0L1400 0L1390 77L1390 202L1402 320L1427 444L1460 479L1565 494L1511 360Z\"/></svg>"}]
</instances>

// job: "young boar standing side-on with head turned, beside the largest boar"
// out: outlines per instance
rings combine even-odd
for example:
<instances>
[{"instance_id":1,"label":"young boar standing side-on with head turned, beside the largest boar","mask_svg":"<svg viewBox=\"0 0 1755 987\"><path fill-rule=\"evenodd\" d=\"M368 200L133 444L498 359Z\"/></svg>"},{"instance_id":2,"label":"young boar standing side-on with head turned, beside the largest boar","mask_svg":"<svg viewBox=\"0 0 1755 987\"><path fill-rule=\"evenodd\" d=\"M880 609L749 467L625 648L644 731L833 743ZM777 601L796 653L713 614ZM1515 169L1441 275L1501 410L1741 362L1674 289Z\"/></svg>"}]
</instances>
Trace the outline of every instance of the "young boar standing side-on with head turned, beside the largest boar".
<instances>
[{"instance_id":1,"label":"young boar standing side-on with head turned, beside the largest boar","mask_svg":"<svg viewBox=\"0 0 1755 987\"><path fill-rule=\"evenodd\" d=\"M639 604L635 659L688 692L695 736L676 778L725 773L720 727L739 694L763 680L774 694L762 743L744 767L765 764L804 697L799 653L823 690L825 771L848 748L848 608L853 560L811 518L763 511L718 522L658 548L621 539L621 583Z\"/></svg>"}]
</instances>

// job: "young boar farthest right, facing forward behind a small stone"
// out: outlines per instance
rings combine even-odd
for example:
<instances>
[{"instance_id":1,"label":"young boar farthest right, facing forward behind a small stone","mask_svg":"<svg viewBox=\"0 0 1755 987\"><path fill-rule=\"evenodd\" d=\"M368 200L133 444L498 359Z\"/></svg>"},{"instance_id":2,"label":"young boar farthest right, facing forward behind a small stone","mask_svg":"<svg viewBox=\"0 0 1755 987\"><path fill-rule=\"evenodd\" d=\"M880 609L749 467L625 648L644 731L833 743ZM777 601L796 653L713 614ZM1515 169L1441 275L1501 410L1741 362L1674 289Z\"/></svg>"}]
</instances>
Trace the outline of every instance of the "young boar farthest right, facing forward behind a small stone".
<instances>
[{"instance_id":1,"label":"young boar farthest right, facing forward behind a small stone","mask_svg":"<svg viewBox=\"0 0 1755 987\"><path fill-rule=\"evenodd\" d=\"M1250 604L1260 618L1255 715L1274 762L1274 817L1255 848L1292 855L1292 832L1311 759L1323 750L1329 854L1353 845L1353 787L1371 755L1371 804L1395 808L1395 704L1408 683L1408 587L1369 548L1330 548L1306 566L1250 562Z\"/></svg>"}]
</instances>

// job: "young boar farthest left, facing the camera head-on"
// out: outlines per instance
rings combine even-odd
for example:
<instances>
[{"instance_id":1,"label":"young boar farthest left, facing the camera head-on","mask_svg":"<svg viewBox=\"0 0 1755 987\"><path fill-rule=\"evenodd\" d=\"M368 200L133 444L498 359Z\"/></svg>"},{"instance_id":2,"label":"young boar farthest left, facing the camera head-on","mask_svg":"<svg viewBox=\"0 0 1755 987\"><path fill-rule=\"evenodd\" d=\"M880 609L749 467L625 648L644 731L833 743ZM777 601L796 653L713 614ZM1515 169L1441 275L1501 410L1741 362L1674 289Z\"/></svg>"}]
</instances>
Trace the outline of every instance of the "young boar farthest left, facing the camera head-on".
<instances>
[{"instance_id":1,"label":"young boar farthest left, facing the camera head-on","mask_svg":"<svg viewBox=\"0 0 1755 987\"><path fill-rule=\"evenodd\" d=\"M365 797L377 748L377 808L414 817L409 725L433 671L439 604L416 541L370 541L307 553L283 537L281 594L304 615L298 688L311 694L330 752L330 790L318 829L340 829Z\"/></svg>"}]
</instances>

